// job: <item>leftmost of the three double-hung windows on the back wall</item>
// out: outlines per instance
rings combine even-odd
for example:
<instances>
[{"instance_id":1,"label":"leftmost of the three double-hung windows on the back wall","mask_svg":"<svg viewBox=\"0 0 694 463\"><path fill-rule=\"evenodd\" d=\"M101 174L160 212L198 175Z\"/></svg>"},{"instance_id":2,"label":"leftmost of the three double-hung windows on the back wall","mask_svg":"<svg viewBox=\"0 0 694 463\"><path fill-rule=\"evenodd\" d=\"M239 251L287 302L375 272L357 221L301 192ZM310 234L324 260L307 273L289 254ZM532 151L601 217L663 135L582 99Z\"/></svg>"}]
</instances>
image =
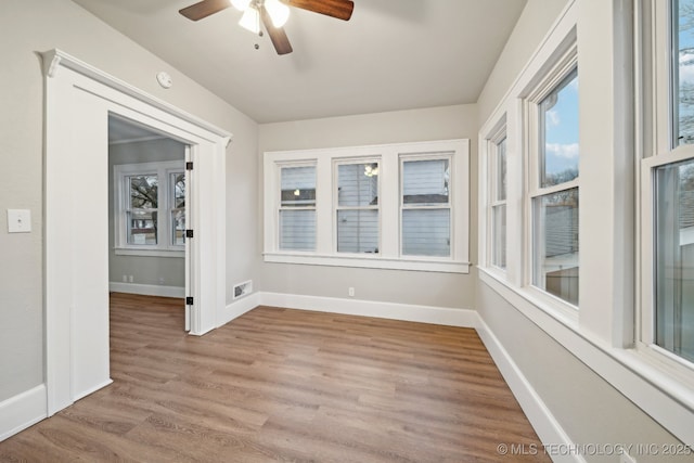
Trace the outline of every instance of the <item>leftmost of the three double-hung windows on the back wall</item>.
<instances>
[{"instance_id":1,"label":"leftmost of the three double-hung windows on the back wall","mask_svg":"<svg viewBox=\"0 0 694 463\"><path fill-rule=\"evenodd\" d=\"M280 168L280 249L316 249L316 166Z\"/></svg>"}]
</instances>

